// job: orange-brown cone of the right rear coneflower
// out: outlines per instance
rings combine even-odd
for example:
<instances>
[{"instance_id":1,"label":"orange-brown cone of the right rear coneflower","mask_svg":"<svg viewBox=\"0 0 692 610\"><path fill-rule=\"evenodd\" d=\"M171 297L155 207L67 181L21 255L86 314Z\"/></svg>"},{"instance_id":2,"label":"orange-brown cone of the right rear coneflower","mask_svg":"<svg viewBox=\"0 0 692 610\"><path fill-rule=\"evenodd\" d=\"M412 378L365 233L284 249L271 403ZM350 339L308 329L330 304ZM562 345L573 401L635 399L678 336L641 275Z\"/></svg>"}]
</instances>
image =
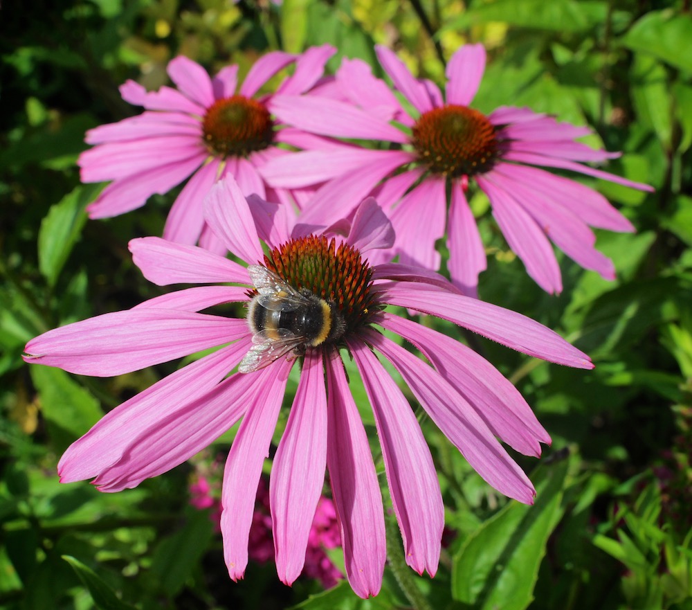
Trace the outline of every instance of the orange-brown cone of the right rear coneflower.
<instances>
[{"instance_id":1,"label":"orange-brown cone of the right rear coneflower","mask_svg":"<svg viewBox=\"0 0 692 610\"><path fill-rule=\"evenodd\" d=\"M453 178L489 170L498 156L495 127L473 108L447 105L421 115L412 128L419 161Z\"/></svg>"}]
</instances>

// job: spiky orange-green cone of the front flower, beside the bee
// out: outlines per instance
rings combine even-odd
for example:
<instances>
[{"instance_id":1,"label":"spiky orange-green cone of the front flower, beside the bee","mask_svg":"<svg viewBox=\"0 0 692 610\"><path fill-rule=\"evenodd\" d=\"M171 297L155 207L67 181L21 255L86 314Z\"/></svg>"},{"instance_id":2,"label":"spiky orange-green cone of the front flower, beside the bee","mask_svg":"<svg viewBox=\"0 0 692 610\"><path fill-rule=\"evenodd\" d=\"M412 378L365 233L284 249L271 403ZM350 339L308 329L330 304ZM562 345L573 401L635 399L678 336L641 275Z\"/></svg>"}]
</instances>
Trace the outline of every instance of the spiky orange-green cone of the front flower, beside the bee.
<instances>
[{"instance_id":1,"label":"spiky orange-green cone of the front flower, beside the bee","mask_svg":"<svg viewBox=\"0 0 692 610\"><path fill-rule=\"evenodd\" d=\"M361 253L324 235L289 240L264 256L264 266L297 290L307 289L343 315L346 332L367 323L378 309L372 269Z\"/></svg>"}]
</instances>

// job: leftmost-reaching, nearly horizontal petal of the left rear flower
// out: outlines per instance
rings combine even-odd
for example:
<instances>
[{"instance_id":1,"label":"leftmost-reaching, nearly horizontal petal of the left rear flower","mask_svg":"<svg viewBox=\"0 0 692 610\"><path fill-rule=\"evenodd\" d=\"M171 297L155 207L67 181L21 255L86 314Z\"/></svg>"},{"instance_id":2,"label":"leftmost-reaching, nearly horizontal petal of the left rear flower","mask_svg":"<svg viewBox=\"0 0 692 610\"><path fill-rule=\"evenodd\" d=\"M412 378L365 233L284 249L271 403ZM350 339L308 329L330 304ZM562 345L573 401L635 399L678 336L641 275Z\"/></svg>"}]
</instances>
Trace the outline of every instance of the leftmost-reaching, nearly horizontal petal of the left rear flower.
<instances>
[{"instance_id":1,"label":"leftmost-reaching, nearly horizontal petal of the left rear flower","mask_svg":"<svg viewBox=\"0 0 692 610\"><path fill-rule=\"evenodd\" d=\"M106 143L80 155L82 182L127 178L162 165L206 157L196 136L164 136Z\"/></svg>"}]
</instances>

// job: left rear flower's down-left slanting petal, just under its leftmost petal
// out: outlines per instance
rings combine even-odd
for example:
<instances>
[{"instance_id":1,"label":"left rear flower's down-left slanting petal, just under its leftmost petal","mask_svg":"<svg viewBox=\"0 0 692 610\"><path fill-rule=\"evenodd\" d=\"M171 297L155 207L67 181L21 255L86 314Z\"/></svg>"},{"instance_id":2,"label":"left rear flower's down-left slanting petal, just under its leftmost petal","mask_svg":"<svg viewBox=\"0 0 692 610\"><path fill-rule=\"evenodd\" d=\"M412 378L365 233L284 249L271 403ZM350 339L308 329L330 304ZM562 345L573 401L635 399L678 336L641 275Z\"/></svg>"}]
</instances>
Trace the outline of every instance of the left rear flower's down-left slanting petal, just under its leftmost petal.
<instances>
[{"instance_id":1,"label":"left rear flower's down-left slanting petal, just under its leftmost petal","mask_svg":"<svg viewBox=\"0 0 692 610\"><path fill-rule=\"evenodd\" d=\"M203 160L193 156L109 184L86 206L89 218L109 218L140 208L154 193L163 195L190 176Z\"/></svg>"}]
</instances>

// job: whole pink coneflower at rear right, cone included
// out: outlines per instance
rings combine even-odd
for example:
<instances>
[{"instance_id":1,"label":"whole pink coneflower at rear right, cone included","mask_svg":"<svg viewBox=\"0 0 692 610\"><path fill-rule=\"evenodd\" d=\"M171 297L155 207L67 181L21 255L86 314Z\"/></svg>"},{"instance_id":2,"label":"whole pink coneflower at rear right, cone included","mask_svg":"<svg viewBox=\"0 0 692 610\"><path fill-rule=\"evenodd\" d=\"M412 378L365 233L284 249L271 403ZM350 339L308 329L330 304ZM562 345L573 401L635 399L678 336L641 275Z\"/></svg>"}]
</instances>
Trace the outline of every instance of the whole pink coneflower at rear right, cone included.
<instances>
[{"instance_id":1,"label":"whole pink coneflower at rear right, cone included","mask_svg":"<svg viewBox=\"0 0 692 610\"><path fill-rule=\"evenodd\" d=\"M475 295L478 275L486 268L465 196L469 181L475 181L488 195L509 246L540 287L562 289L549 240L582 267L614 278L612 262L594 249L590 226L633 231L632 224L598 192L534 166L651 190L582 163L617 153L575 141L590 129L558 123L528 108L500 107L485 116L469 107L485 68L480 44L462 46L451 58L446 100L435 84L413 78L392 51L378 46L376 52L413 114L391 92L383 93L383 82L359 60L344 60L336 74L347 101L277 96L269 105L284 122L315 134L391 145L370 150L345 143L338 151L320 147L265 165L262 174L277 187L327 181L307 206L305 222L347 215L356 201L372 194L392 219L399 260L428 269L439 269L435 241L444 236L446 225L450 276L466 294Z\"/></svg>"}]
</instances>

